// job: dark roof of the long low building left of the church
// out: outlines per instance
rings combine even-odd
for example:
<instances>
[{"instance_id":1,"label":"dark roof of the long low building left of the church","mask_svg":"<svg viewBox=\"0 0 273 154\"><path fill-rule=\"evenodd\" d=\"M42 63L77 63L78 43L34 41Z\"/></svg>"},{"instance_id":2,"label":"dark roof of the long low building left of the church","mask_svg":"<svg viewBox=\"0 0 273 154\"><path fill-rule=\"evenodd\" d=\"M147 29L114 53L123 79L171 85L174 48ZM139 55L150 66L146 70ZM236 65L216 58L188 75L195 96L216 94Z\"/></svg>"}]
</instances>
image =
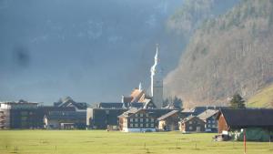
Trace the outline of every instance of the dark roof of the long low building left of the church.
<instances>
[{"instance_id":1,"label":"dark roof of the long low building left of the church","mask_svg":"<svg viewBox=\"0 0 273 154\"><path fill-rule=\"evenodd\" d=\"M86 119L86 112L76 112L76 111L52 111L45 115L47 119Z\"/></svg>"}]
</instances>

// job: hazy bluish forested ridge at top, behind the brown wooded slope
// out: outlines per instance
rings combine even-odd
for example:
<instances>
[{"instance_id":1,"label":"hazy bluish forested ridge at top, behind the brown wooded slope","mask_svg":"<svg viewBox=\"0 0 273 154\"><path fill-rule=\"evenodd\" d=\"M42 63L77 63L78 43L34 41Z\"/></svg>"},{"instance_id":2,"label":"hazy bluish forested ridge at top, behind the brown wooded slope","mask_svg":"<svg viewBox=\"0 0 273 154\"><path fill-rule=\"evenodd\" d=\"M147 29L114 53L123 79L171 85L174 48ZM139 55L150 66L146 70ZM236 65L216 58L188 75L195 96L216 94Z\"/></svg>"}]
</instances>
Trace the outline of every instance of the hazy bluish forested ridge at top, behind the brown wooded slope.
<instances>
[{"instance_id":1,"label":"hazy bluish forested ridge at top, behind the brown wooded slope","mask_svg":"<svg viewBox=\"0 0 273 154\"><path fill-rule=\"evenodd\" d=\"M191 36L204 20L226 13L238 2L239 0L185 0L182 7L170 16L167 27L175 34Z\"/></svg>"}]
</instances>

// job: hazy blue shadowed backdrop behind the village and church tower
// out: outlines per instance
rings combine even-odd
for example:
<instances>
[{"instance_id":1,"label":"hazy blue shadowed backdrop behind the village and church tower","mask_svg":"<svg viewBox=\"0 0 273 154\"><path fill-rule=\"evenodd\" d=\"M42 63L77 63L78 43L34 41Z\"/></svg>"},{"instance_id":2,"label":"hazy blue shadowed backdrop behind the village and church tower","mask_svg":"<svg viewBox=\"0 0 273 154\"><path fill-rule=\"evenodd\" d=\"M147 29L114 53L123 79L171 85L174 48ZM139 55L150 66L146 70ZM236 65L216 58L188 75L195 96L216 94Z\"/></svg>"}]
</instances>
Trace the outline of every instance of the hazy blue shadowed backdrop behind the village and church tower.
<instances>
[{"instance_id":1,"label":"hazy blue shadowed backdrop behind the village and church tower","mask_svg":"<svg viewBox=\"0 0 273 154\"><path fill-rule=\"evenodd\" d=\"M115 102L140 81L148 88L157 43L166 72L176 64L165 24L179 5L0 0L0 100Z\"/></svg>"}]
</instances>

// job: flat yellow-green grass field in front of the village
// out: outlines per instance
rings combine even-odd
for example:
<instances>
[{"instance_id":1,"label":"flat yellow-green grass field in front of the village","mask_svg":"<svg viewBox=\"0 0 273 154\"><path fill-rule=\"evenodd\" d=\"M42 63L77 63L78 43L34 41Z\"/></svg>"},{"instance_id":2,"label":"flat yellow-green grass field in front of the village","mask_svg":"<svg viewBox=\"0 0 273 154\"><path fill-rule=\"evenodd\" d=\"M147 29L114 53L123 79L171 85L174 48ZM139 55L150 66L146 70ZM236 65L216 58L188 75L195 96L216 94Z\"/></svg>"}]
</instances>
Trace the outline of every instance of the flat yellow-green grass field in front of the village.
<instances>
[{"instance_id":1,"label":"flat yellow-green grass field in front of the village","mask_svg":"<svg viewBox=\"0 0 273 154\"><path fill-rule=\"evenodd\" d=\"M0 154L243 154L243 142L215 134L123 133L103 130L1 130ZM273 143L248 142L248 154L272 154ZM17 150L15 150L17 147Z\"/></svg>"}]
</instances>

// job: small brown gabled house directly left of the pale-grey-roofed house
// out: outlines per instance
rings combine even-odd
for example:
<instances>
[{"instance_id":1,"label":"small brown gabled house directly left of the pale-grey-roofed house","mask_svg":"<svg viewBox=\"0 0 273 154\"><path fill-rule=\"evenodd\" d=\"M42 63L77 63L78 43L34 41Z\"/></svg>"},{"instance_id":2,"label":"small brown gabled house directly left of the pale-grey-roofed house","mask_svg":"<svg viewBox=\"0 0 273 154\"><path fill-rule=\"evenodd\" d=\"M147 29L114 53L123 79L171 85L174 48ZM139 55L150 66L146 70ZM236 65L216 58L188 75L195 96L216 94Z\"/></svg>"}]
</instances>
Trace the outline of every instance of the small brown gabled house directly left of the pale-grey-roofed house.
<instances>
[{"instance_id":1,"label":"small brown gabled house directly left of the pale-grey-roofed house","mask_svg":"<svg viewBox=\"0 0 273 154\"><path fill-rule=\"evenodd\" d=\"M179 122L179 129L182 132L204 132L205 122L197 116L189 116Z\"/></svg>"}]
</instances>

